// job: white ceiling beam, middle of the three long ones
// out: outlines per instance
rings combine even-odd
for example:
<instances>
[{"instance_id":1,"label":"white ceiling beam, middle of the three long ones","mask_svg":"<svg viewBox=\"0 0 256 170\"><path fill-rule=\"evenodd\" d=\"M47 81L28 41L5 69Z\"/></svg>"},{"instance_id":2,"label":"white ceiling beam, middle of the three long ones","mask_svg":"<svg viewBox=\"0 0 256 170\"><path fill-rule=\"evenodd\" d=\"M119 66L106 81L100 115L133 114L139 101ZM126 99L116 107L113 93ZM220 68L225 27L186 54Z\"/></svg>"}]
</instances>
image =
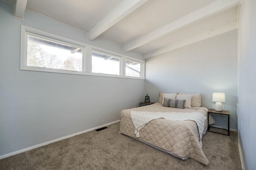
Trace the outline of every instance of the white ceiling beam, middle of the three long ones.
<instances>
[{"instance_id":1,"label":"white ceiling beam, middle of the three long ones","mask_svg":"<svg viewBox=\"0 0 256 170\"><path fill-rule=\"evenodd\" d=\"M204 18L208 18L210 16L213 16L214 14L227 10L228 8L236 6L239 3L240 0L217 0L212 4L204 6L199 10L196 10L182 18L179 18L178 20L175 20L159 29L156 29L155 31L152 31L151 33L144 35L143 37L140 37L124 45L123 51L127 52L132 49L135 49L136 47L140 47L146 43L154 41L155 39L163 37L168 33L177 31L178 29L186 27L192 23L195 23L197 21L203 20Z\"/></svg>"}]
</instances>

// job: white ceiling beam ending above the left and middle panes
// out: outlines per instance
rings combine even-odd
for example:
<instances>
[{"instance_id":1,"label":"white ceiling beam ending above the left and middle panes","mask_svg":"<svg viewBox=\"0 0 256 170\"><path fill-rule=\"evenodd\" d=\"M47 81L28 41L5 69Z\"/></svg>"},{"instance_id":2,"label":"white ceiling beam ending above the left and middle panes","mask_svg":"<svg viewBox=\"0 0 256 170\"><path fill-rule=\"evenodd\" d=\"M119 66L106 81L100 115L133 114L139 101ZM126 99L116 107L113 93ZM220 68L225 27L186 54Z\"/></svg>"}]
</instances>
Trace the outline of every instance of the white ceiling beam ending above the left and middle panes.
<instances>
[{"instance_id":1,"label":"white ceiling beam ending above the left and middle panes","mask_svg":"<svg viewBox=\"0 0 256 170\"><path fill-rule=\"evenodd\" d=\"M87 33L87 40L92 41L128 14L142 6L148 0L125 0L122 4L111 11L105 18L98 22Z\"/></svg>"}]
</instances>

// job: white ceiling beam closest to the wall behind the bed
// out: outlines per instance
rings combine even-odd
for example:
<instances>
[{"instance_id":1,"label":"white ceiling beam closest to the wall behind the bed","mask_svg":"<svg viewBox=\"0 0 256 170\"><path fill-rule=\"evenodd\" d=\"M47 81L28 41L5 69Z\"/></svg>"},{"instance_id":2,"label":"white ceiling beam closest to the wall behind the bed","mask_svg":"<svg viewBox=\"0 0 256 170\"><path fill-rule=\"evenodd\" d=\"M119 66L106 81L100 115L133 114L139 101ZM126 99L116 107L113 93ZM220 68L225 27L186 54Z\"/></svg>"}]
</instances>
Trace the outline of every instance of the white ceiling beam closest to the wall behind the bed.
<instances>
[{"instance_id":1,"label":"white ceiling beam closest to the wall behind the bed","mask_svg":"<svg viewBox=\"0 0 256 170\"><path fill-rule=\"evenodd\" d=\"M214 37L216 35L220 35L222 33L228 32L228 31L232 31L234 29L237 29L237 21L227 23L227 24L222 25L220 27L210 29L208 31L205 31L203 33L195 35L194 37L190 37L188 39L184 39L184 40L179 41L177 43L173 43L173 44L168 45L166 47L163 47L163 48L151 51L149 53L146 53L145 54L145 59L148 59L150 57L154 57L156 55L160 55L160 54L163 54L163 53L167 53L167 52L172 51L174 49L178 49L180 47L184 47L186 45L190 45L192 43L196 43L198 41L202 41L204 39L208 39L208 38Z\"/></svg>"}]
</instances>

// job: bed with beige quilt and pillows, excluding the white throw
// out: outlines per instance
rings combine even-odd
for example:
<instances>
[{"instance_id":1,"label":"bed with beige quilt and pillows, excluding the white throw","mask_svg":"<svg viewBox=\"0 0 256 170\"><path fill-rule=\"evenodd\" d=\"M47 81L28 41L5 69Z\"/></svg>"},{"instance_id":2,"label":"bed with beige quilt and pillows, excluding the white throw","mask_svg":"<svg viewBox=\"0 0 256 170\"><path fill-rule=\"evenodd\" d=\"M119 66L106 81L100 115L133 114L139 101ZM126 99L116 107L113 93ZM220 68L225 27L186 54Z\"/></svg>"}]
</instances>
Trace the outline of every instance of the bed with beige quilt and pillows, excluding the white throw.
<instances>
[{"instance_id":1,"label":"bed with beige quilt and pillows, excluding the white throw","mask_svg":"<svg viewBox=\"0 0 256 170\"><path fill-rule=\"evenodd\" d=\"M147 145L172 154L173 156L176 156L183 160L192 158L204 165L208 165L209 161L202 150L202 142L200 141L200 137L202 137L206 133L208 127L208 109L205 107L201 107L201 94L176 93L175 97L172 95L170 97L170 95L168 96L168 94L166 93L159 93L159 96L160 97L158 103L143 107L122 110L120 113L119 133L132 137L138 141L146 143ZM190 96L190 98L186 98L185 100L187 105L186 108L181 109L175 107L165 107L167 100L175 100L176 103L177 100L181 101L180 96L182 96L183 99L184 96L185 98ZM198 114L202 114L202 116L206 117L206 119L203 123L204 130L202 134L199 133L199 125L195 121L175 121L171 119L158 118L148 121L148 123L146 123L141 129L139 129L139 135L137 135L137 129L132 120L131 112L136 112L138 114L146 114L148 112L153 114L159 112L188 114L196 112ZM209 122L210 124L214 123L212 117L209 117Z\"/></svg>"}]
</instances>

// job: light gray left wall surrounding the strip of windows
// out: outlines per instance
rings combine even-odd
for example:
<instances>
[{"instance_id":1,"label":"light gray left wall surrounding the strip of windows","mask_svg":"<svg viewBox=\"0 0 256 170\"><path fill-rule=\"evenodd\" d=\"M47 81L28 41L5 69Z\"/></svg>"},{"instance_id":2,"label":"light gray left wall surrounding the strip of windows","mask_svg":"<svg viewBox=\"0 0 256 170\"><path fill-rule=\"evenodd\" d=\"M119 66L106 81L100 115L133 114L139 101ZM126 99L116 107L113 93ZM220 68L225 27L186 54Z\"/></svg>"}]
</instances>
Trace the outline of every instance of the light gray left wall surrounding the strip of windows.
<instances>
[{"instance_id":1,"label":"light gray left wall surrounding the strip of windows","mask_svg":"<svg viewBox=\"0 0 256 170\"><path fill-rule=\"evenodd\" d=\"M123 53L122 46L0 0L0 156L120 119L139 106L145 80L20 70L20 25ZM125 55L144 60L131 51Z\"/></svg>"}]
</instances>

